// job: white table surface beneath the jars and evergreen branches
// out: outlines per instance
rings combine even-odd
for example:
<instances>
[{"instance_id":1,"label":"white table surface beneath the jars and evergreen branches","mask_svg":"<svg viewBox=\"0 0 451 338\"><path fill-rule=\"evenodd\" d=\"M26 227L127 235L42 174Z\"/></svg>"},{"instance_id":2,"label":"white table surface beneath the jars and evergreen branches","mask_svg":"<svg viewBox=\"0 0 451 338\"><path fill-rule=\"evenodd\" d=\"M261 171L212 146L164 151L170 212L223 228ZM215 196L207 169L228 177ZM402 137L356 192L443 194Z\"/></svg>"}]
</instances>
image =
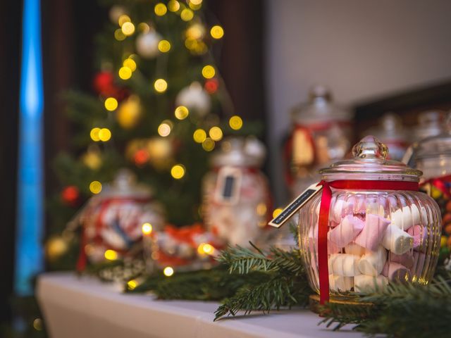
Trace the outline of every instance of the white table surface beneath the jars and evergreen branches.
<instances>
[{"instance_id":1,"label":"white table surface beneath the jars and evergreen branches","mask_svg":"<svg viewBox=\"0 0 451 338\"><path fill-rule=\"evenodd\" d=\"M51 338L363 337L351 326L339 332L318 326L318 315L300 309L214 322L218 303L122 294L117 285L73 273L41 275L37 299Z\"/></svg>"}]
</instances>

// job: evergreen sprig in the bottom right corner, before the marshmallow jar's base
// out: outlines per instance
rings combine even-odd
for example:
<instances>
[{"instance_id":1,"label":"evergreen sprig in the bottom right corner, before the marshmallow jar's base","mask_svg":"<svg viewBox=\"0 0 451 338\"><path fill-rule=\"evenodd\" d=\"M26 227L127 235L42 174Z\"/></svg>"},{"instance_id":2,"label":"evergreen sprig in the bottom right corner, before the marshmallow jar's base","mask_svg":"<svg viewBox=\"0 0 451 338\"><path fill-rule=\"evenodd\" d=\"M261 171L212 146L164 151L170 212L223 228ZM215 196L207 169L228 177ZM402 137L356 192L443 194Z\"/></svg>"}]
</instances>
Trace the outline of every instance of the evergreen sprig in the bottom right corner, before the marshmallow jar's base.
<instances>
[{"instance_id":1,"label":"evergreen sprig in the bottom right corner, before the marshmallow jar's base","mask_svg":"<svg viewBox=\"0 0 451 338\"><path fill-rule=\"evenodd\" d=\"M451 273L438 276L430 284L390 284L387 288L362 296L370 307L329 303L322 323L357 324L355 330L388 337L450 337ZM364 311L364 313L362 313Z\"/></svg>"}]
</instances>

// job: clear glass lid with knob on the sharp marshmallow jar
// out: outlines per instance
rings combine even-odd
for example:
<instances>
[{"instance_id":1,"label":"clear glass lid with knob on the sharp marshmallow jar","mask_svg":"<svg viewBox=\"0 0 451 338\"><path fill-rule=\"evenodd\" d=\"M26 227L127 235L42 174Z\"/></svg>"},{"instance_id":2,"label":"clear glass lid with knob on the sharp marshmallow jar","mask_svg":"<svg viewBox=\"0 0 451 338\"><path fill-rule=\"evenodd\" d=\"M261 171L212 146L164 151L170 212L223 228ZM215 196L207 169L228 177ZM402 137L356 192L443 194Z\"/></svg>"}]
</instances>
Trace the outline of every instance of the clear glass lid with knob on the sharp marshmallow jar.
<instances>
[{"instance_id":1,"label":"clear glass lid with knob on the sharp marshmallow jar","mask_svg":"<svg viewBox=\"0 0 451 338\"><path fill-rule=\"evenodd\" d=\"M333 163L319 171L323 179L347 179L349 175L359 180L408 180L418 182L423 175L400 161L388 160L388 147L371 135L364 137L352 147L350 160ZM333 177L332 177L333 176Z\"/></svg>"}]
</instances>

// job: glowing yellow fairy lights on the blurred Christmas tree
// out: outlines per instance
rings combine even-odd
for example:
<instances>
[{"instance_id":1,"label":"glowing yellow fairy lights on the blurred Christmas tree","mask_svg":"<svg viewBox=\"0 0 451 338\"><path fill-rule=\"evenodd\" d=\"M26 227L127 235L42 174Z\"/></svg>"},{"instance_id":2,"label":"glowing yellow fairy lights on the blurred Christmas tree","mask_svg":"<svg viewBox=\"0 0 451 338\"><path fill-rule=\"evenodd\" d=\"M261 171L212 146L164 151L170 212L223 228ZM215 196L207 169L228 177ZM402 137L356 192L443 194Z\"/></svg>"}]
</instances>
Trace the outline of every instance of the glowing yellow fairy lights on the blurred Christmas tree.
<instances>
[{"instance_id":1,"label":"glowing yellow fairy lights on the blurred Christmas tree","mask_svg":"<svg viewBox=\"0 0 451 338\"><path fill-rule=\"evenodd\" d=\"M179 15L180 19L189 23L194 19L194 12L202 7L202 0L187 0L186 4L182 1L170 0L167 4L158 3L154 6L155 15L162 17L173 13ZM123 41L135 33L146 34L152 32L154 28L148 23L133 23L132 18L125 13L119 13L117 18L118 28L114 31L114 38L118 41ZM185 47L194 55L205 54L208 50L206 44L202 41L202 37L206 32L204 25L194 22L189 25L185 30ZM224 36L224 30L221 25L214 25L210 27L209 35L212 39L222 39ZM157 48L159 53L166 54L171 51L172 45L168 39L163 39L160 35L155 35L158 39ZM118 69L118 77L127 81L133 76L133 73L137 70L137 55L131 54L125 58L121 68ZM217 71L214 65L206 64L202 67L201 74L204 78L204 89L209 94L214 94L218 89ZM193 82L197 84L197 82ZM192 85L193 85L192 84ZM168 81L159 77L152 82L152 87L156 94L164 94L168 89ZM119 102L113 96L106 97L104 99L104 107L108 112L114 112L118 110ZM185 120L190 115L190 109L187 106L176 106L173 111L176 120ZM242 118L238 115L233 115L228 120L228 125L232 130L240 130L243 125ZM123 127L127 127L128 124L123 123ZM160 137L168 137L173 130L173 121L166 119L163 120L157 128L157 133ZM111 130L107 127L96 126L93 127L89 134L93 142L109 142L112 134ZM212 151L215 148L216 142L221 141L223 138L223 130L218 125L214 125L209 130L197 128L192 134L192 139L195 143L200 144L204 151ZM146 159L145 154L137 152L137 159L144 161ZM173 165L170 169L171 176L174 180L180 180L185 176L186 168L182 163ZM101 192L101 182L93 181L89 184L89 191L92 194L99 194Z\"/></svg>"}]
</instances>

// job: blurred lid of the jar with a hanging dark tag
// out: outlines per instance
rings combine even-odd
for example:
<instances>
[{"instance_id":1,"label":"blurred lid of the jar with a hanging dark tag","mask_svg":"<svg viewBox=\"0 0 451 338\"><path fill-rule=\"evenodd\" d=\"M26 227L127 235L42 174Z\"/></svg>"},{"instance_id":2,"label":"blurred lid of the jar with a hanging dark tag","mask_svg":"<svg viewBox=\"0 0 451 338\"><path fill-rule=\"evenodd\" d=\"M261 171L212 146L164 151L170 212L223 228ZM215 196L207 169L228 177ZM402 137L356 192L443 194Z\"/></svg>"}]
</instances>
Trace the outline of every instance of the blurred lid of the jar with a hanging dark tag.
<instances>
[{"instance_id":1,"label":"blurred lid of the jar with a hanging dark tag","mask_svg":"<svg viewBox=\"0 0 451 338\"><path fill-rule=\"evenodd\" d=\"M211 164L214 167L259 167L265 156L266 149L256 137L228 137L221 143L221 149L211 156Z\"/></svg>"}]
</instances>

